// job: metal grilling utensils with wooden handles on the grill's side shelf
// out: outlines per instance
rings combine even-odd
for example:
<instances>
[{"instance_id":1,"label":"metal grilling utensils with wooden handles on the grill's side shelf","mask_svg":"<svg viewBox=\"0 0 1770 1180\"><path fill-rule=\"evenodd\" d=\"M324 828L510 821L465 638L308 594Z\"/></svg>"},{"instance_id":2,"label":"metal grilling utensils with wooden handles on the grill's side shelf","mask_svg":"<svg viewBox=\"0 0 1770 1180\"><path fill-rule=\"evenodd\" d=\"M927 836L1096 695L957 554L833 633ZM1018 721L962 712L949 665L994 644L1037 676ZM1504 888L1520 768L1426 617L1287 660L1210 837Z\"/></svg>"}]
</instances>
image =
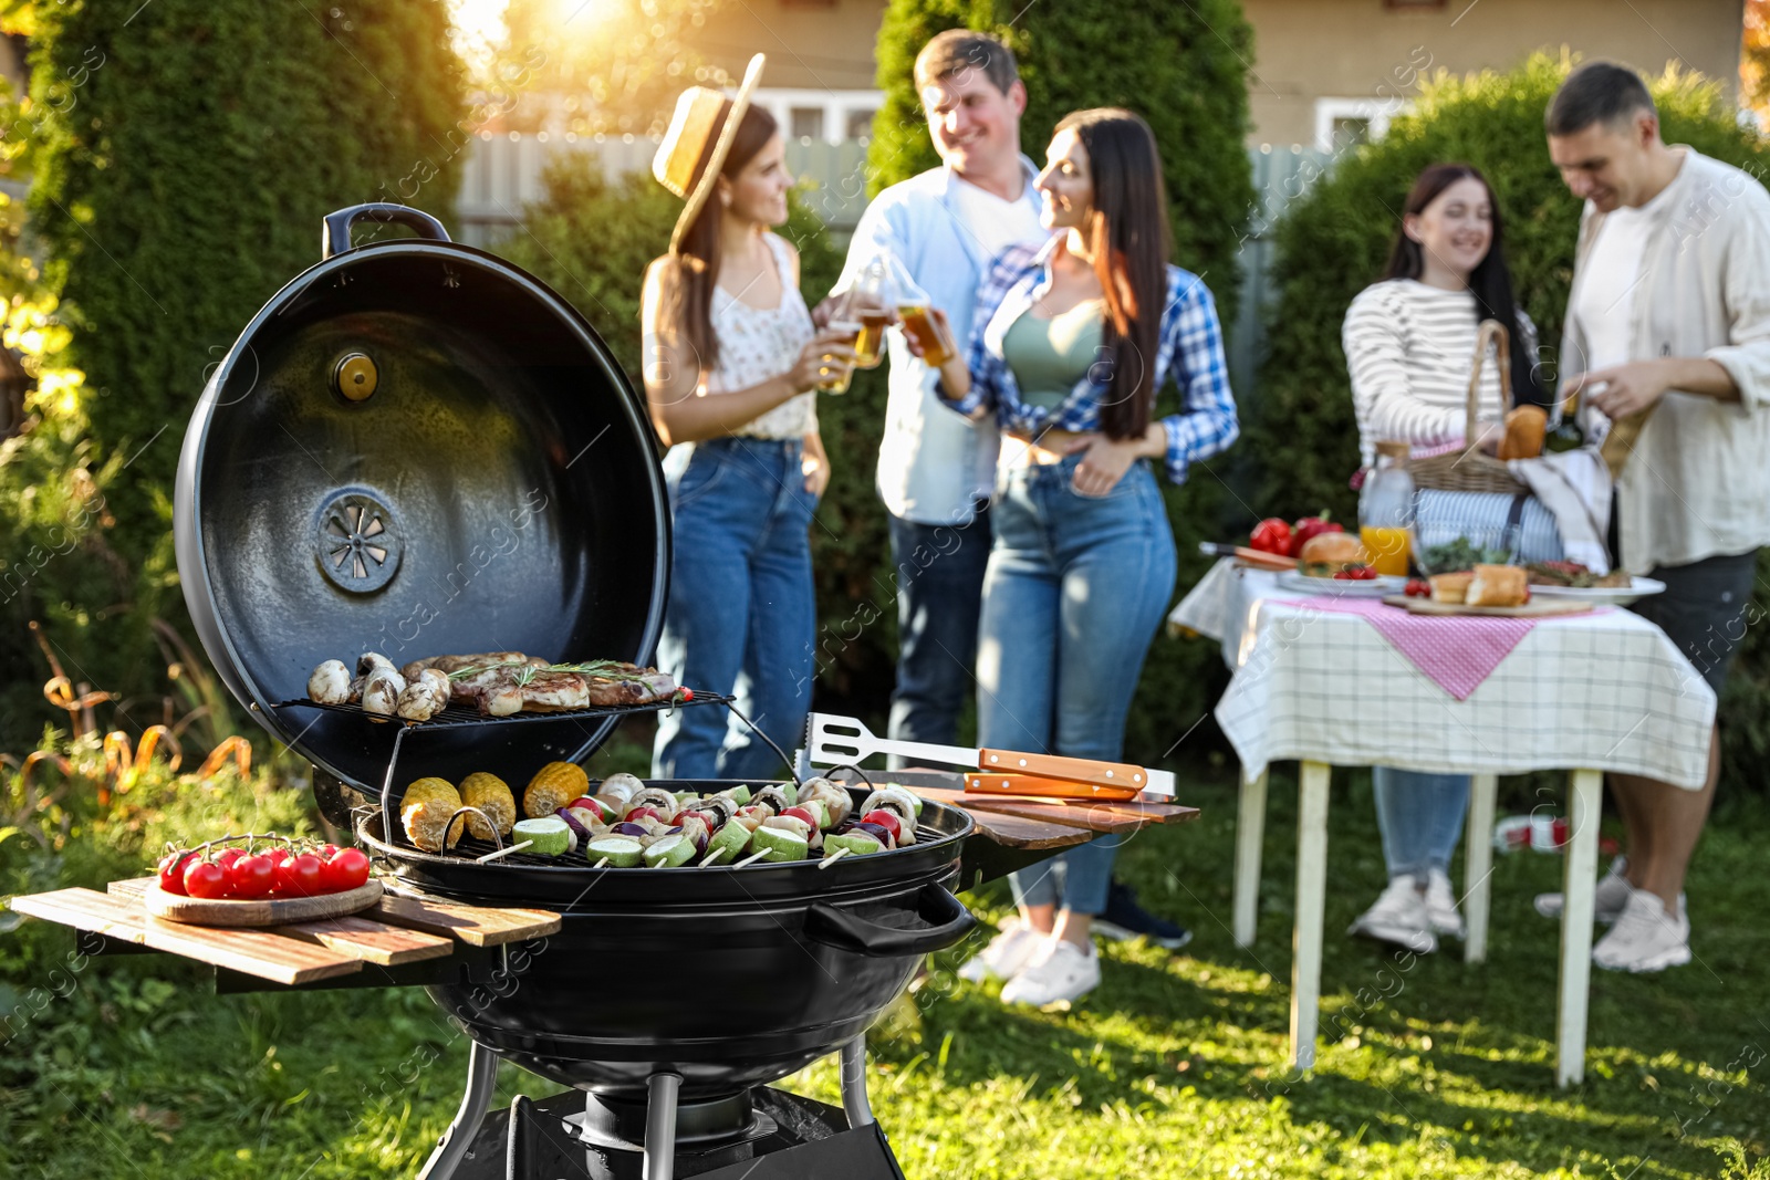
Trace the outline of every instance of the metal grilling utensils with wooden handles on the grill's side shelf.
<instances>
[{"instance_id":1,"label":"metal grilling utensils with wooden handles on the grill's side shelf","mask_svg":"<svg viewBox=\"0 0 1770 1180\"><path fill-rule=\"evenodd\" d=\"M873 754L965 766L965 789L984 794L1037 794L1058 800L1135 800L1140 793L1174 798L1174 775L1126 762L1096 762L1057 754L968 750L931 741L876 738L853 716L812 713L805 718L807 757L812 766L857 764Z\"/></svg>"}]
</instances>

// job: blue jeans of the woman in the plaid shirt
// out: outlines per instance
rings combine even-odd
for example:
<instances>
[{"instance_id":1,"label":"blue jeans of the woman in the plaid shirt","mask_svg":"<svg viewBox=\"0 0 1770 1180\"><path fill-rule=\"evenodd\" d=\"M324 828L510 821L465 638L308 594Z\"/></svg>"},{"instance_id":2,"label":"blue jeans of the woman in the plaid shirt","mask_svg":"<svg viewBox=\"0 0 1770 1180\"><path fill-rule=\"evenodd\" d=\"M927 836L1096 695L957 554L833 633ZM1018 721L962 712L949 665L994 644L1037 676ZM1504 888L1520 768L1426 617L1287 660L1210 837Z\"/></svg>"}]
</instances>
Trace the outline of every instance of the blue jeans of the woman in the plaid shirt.
<instances>
[{"instance_id":1,"label":"blue jeans of the woman in the plaid shirt","mask_svg":"<svg viewBox=\"0 0 1770 1180\"><path fill-rule=\"evenodd\" d=\"M1149 642L1174 594L1174 533L1149 465L1108 495L1071 490L1080 456L1011 469L977 646L977 741L1117 761ZM1101 837L1009 877L1025 906L1097 915L1119 847Z\"/></svg>"}]
</instances>

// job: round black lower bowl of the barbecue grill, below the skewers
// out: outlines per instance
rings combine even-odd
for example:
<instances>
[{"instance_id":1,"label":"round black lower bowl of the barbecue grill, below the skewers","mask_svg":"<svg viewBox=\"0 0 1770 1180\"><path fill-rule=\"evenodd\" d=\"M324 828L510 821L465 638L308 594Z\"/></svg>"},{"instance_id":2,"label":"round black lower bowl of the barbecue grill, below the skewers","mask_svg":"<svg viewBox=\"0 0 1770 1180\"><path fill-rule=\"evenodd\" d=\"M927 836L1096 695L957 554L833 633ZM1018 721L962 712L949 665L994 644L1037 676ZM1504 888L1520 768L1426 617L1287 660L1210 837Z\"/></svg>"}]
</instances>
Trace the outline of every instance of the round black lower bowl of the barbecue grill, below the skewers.
<instances>
[{"instance_id":1,"label":"round black lower bowl of the barbecue grill, below the skewers","mask_svg":"<svg viewBox=\"0 0 1770 1180\"><path fill-rule=\"evenodd\" d=\"M828 869L593 870L476 865L384 842L379 814L358 826L373 856L437 900L563 915L558 934L512 946L508 962L464 966L428 989L474 1040L605 1097L639 1100L651 1074L676 1072L694 1102L834 1053L903 994L924 954L975 925L949 892L972 819L927 803L920 833L912 847Z\"/></svg>"}]
</instances>

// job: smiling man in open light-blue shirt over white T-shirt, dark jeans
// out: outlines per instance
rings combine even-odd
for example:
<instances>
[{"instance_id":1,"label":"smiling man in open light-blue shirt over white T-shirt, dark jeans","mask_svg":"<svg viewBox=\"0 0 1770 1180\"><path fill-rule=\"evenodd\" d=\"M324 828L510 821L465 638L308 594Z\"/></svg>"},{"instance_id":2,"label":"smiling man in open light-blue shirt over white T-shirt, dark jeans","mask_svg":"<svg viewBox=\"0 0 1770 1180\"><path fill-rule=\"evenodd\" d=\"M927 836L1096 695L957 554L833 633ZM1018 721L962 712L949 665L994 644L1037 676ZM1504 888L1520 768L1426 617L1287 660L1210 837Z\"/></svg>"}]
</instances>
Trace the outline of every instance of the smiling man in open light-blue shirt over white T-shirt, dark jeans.
<instances>
[{"instance_id":1,"label":"smiling man in open light-blue shirt over white T-shirt, dark jeans","mask_svg":"<svg viewBox=\"0 0 1770 1180\"><path fill-rule=\"evenodd\" d=\"M894 184L867 205L837 290L887 255L947 313L963 349L989 262L1009 246L1043 242L1039 172L1020 152L1027 88L1014 55L984 34L954 28L915 58L915 81L942 166ZM890 513L897 591L897 685L889 732L958 741L975 690L977 616L989 557L997 428L935 396L936 372L889 336L890 395L878 490Z\"/></svg>"}]
</instances>

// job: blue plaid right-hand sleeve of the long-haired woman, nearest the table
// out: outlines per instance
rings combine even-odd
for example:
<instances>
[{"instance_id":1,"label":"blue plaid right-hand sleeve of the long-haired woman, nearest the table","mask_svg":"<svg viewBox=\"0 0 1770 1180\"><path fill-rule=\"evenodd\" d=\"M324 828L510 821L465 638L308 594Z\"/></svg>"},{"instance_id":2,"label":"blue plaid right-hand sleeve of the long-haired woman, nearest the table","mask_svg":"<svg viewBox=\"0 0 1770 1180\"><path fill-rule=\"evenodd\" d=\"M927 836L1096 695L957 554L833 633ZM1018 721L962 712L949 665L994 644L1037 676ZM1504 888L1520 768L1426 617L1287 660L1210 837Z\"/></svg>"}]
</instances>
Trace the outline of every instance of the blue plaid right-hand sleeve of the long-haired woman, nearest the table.
<instances>
[{"instance_id":1,"label":"blue plaid right-hand sleeve of the long-haired woman, nearest the table","mask_svg":"<svg viewBox=\"0 0 1770 1180\"><path fill-rule=\"evenodd\" d=\"M1228 387L1216 301L1204 280L1179 267L1168 267L1161 347L1181 387L1181 412L1161 419L1168 433L1168 479L1186 483L1188 467L1227 451L1241 435L1241 425Z\"/></svg>"}]
</instances>

